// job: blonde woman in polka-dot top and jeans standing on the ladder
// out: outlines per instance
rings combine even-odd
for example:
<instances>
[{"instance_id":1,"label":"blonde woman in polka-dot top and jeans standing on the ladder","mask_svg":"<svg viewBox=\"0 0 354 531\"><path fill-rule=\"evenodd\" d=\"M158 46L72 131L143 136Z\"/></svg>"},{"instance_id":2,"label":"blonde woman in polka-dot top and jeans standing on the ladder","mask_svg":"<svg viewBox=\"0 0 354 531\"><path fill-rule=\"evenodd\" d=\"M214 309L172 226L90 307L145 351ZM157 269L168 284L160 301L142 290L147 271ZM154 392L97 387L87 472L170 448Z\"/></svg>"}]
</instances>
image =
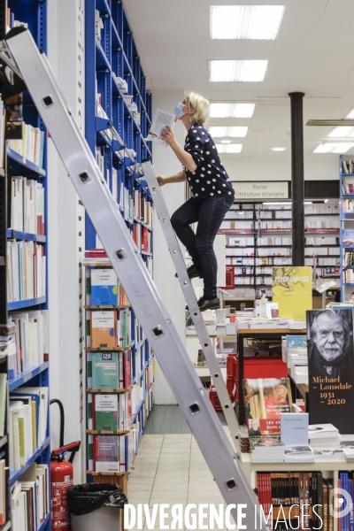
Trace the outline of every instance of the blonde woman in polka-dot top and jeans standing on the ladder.
<instances>
[{"instance_id":1,"label":"blonde woman in polka-dot top and jeans standing on the ladder","mask_svg":"<svg viewBox=\"0 0 354 531\"><path fill-rule=\"evenodd\" d=\"M218 263L213 243L235 199L234 188L212 136L204 127L209 108L208 100L194 92L176 105L174 112L188 131L184 148L176 141L171 127L165 127L161 136L180 160L182 170L168 177L158 175L160 186L187 181L192 192L192 197L173 213L171 223L193 260L187 270L189 278L204 279L204 295L198 301L201 312L220 307L216 286ZM190 224L196 221L195 234Z\"/></svg>"}]
</instances>

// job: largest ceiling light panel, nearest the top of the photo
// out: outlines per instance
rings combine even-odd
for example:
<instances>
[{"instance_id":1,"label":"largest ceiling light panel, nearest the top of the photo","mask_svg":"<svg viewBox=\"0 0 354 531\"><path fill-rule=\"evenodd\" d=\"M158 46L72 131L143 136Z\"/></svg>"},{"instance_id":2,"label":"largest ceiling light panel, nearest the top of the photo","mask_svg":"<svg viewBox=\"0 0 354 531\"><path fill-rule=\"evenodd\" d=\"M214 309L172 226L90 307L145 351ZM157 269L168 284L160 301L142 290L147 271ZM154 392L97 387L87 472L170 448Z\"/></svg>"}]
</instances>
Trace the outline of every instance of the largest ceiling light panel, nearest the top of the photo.
<instances>
[{"instance_id":1,"label":"largest ceiling light panel, nearest the top of the photo","mask_svg":"<svg viewBox=\"0 0 354 531\"><path fill-rule=\"evenodd\" d=\"M285 5L212 5L212 39L276 38Z\"/></svg>"}]
</instances>

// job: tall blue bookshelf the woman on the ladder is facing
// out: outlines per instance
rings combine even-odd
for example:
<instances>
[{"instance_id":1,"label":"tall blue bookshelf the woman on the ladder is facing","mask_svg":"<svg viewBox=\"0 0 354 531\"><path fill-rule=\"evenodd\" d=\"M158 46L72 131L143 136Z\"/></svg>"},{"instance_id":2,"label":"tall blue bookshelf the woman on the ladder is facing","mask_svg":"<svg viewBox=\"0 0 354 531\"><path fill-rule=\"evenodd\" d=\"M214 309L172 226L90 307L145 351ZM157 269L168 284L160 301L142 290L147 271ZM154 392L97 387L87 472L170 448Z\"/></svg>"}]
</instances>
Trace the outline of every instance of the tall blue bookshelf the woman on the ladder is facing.
<instances>
[{"instance_id":1,"label":"tall blue bookshelf the woman on the ladder is facing","mask_svg":"<svg viewBox=\"0 0 354 531\"><path fill-rule=\"evenodd\" d=\"M86 139L137 250L152 275L153 205L138 164L144 158L151 158L151 143L145 141L151 123L151 95L146 92L139 53L122 2L86 0L85 46ZM110 269L111 265L107 259L104 261L102 244L88 216L85 235L87 478L88 481L110 478L110 482L119 483L127 493L127 473L153 403L154 356L121 287L114 304L102 305L100 301L93 300L92 276L104 268ZM96 252L93 251L95 249ZM119 285L117 279L115 282ZM100 347L96 350L90 337L91 321L98 319L95 316L100 312L107 312L118 323L126 319L124 331L120 334L124 339L119 340L118 333L120 344L107 350ZM112 359L118 358L119 366L124 366L123 381L119 382L122 387L119 389L92 389L94 359L103 357L104 353L112 355ZM97 434L99 430L94 427L95 418L89 416L95 411L103 391L112 396L114 404L118 402L119 408L122 404L119 412L126 417L119 429L111 430L111 435L107 432ZM124 441L127 445L125 469L112 473L112 476L97 471L97 463L92 458L94 439L104 434L119 436L119 444Z\"/></svg>"}]
</instances>

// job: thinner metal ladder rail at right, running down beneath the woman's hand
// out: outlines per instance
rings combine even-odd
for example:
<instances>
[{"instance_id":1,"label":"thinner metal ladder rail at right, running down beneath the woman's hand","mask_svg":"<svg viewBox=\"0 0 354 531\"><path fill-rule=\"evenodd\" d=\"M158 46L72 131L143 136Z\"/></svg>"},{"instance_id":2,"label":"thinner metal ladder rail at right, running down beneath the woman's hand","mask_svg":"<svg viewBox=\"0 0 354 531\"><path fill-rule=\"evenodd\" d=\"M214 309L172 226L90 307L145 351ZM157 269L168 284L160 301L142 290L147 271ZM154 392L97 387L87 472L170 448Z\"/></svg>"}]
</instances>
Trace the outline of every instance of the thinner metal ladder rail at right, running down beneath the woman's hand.
<instances>
[{"instance_id":1,"label":"thinner metal ladder rail at right, running down beneath the woman's hand","mask_svg":"<svg viewBox=\"0 0 354 531\"><path fill-rule=\"evenodd\" d=\"M175 266L179 281L181 283L181 289L183 290L187 304L189 305L189 311L192 316L193 323L196 327L196 334L199 337L199 341L203 349L206 362L212 374L212 381L214 382L215 389L217 390L219 402L222 406L222 410L227 420L227 426L230 429L233 443L235 445L235 448L237 449L236 439L238 436L239 425L237 422L235 410L233 405L231 404L226 383L224 381L218 360L212 348L211 338L205 327L202 312L200 312L198 304L196 302L196 294L186 270L185 261L181 253L181 247L177 240L177 236L173 231L171 219L167 207L165 205L165 199L158 185L156 173L153 165L151 165L150 163L150 160L142 161L142 170L150 188L150 193L153 198L155 210L158 214L158 219L161 223L162 231L165 235L168 250L170 251L171 257L173 259L173 264Z\"/></svg>"}]
</instances>

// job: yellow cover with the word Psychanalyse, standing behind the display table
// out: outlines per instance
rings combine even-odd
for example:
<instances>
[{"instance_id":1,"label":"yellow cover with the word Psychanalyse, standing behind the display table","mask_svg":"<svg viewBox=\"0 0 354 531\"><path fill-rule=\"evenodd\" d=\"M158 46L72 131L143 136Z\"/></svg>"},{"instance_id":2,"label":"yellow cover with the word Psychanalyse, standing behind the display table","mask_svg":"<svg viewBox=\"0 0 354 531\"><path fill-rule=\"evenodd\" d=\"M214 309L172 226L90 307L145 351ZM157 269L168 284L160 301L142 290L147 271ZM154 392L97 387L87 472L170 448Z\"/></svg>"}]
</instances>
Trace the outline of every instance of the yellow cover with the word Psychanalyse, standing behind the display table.
<instances>
[{"instance_id":1,"label":"yellow cover with the word Psychanalyse, standing behind the display table","mask_svg":"<svg viewBox=\"0 0 354 531\"><path fill-rule=\"evenodd\" d=\"M281 319L306 319L306 310L312 310L312 267L273 267L272 287Z\"/></svg>"}]
</instances>

